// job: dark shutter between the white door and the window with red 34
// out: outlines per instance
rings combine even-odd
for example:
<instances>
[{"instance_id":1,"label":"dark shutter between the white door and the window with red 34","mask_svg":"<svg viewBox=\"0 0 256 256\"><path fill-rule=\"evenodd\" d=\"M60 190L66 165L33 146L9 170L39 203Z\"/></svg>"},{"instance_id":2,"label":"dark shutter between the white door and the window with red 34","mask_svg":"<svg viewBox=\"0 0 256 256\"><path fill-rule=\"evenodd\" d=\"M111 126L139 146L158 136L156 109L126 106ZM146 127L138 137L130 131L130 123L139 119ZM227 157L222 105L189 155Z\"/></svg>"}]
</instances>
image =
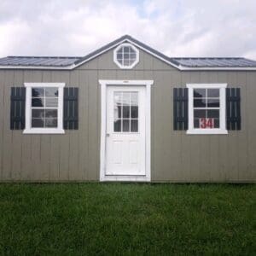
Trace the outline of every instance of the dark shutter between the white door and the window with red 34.
<instances>
[{"instance_id":1,"label":"dark shutter between the white door and the window with red 34","mask_svg":"<svg viewBox=\"0 0 256 256\"><path fill-rule=\"evenodd\" d=\"M188 130L188 88L173 89L173 129Z\"/></svg>"}]
</instances>

